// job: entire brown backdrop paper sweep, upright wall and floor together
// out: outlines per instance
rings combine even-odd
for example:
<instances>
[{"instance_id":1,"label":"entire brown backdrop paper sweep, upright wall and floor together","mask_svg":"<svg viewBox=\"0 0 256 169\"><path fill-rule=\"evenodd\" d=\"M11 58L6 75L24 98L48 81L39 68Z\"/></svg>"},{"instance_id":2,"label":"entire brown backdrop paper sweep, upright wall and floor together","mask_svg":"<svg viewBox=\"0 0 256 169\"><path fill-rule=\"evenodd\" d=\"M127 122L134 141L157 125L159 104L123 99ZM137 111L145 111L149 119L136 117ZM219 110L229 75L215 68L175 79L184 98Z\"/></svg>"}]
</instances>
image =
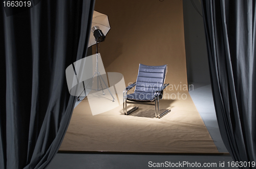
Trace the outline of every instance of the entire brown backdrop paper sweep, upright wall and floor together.
<instances>
[{"instance_id":1,"label":"entire brown backdrop paper sweep, upright wall and floor together","mask_svg":"<svg viewBox=\"0 0 256 169\"><path fill-rule=\"evenodd\" d=\"M108 15L111 25L100 44L105 71L122 73L127 86L136 81L139 63L167 64L165 82L170 86L160 110L172 111L156 119L154 107L139 105L125 116L120 105L92 116L90 107L102 105L83 100L74 109L59 150L218 153L187 89L182 91L187 85L182 1L96 0L95 10Z\"/></svg>"}]
</instances>

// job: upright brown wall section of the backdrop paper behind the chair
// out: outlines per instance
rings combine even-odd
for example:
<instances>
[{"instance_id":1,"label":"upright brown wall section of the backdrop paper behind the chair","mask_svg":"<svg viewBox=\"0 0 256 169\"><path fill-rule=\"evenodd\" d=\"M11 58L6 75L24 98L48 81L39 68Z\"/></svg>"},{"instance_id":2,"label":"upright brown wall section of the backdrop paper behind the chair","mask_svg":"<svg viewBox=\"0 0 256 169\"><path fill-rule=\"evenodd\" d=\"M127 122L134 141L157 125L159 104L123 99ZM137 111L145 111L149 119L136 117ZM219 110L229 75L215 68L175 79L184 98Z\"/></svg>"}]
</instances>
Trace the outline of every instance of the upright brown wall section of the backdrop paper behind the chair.
<instances>
[{"instance_id":1,"label":"upright brown wall section of the backdrop paper behind the chair","mask_svg":"<svg viewBox=\"0 0 256 169\"><path fill-rule=\"evenodd\" d=\"M96 0L95 10L108 15L111 26L100 43L106 72L122 73L128 85L140 63L167 64L165 82L187 85L182 1Z\"/></svg>"}]
</instances>

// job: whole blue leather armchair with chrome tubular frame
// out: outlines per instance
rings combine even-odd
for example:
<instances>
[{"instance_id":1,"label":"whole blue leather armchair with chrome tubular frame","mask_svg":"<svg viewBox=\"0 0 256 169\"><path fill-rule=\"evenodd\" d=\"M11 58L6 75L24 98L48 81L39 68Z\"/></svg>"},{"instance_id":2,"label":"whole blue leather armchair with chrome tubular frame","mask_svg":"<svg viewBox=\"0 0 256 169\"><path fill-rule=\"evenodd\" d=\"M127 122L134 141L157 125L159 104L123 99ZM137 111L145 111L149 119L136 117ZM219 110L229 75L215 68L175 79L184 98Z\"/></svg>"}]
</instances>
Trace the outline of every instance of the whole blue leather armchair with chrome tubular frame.
<instances>
[{"instance_id":1,"label":"whole blue leather armchair with chrome tubular frame","mask_svg":"<svg viewBox=\"0 0 256 169\"><path fill-rule=\"evenodd\" d=\"M167 65L147 66L140 64L136 82L123 91L124 115L129 115L139 108L135 106L127 111L127 103L154 105L156 118L161 118L170 112L168 109L162 114L159 113L159 99L162 99L163 90L169 85L164 84L166 73ZM134 93L127 95L127 91L133 87L135 87Z\"/></svg>"}]
</instances>

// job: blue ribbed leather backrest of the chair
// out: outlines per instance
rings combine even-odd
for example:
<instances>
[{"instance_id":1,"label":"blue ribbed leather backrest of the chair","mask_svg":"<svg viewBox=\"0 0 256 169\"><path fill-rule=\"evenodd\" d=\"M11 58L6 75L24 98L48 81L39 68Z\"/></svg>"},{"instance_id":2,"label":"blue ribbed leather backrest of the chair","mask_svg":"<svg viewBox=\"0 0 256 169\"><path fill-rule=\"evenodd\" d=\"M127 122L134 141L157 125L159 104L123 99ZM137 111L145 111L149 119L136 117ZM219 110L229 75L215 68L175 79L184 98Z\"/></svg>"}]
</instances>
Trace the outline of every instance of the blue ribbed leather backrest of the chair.
<instances>
[{"instance_id":1,"label":"blue ribbed leather backrest of the chair","mask_svg":"<svg viewBox=\"0 0 256 169\"><path fill-rule=\"evenodd\" d=\"M164 85L167 65L147 66L139 65L135 92L152 93Z\"/></svg>"}]
</instances>

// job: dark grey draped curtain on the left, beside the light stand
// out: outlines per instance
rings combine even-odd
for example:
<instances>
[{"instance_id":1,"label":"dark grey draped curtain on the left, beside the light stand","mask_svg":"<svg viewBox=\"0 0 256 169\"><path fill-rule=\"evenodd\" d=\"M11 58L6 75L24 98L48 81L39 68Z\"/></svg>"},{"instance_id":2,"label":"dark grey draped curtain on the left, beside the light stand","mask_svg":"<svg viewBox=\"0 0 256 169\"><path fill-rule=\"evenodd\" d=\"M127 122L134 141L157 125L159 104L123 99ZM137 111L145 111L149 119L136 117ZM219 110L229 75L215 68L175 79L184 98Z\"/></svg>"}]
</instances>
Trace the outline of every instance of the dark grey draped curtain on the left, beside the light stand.
<instances>
[{"instance_id":1,"label":"dark grey draped curtain on the left, beside the light stand","mask_svg":"<svg viewBox=\"0 0 256 169\"><path fill-rule=\"evenodd\" d=\"M94 0L42 0L0 11L0 168L45 168L68 128L75 97L65 70L86 55Z\"/></svg>"}]
</instances>

